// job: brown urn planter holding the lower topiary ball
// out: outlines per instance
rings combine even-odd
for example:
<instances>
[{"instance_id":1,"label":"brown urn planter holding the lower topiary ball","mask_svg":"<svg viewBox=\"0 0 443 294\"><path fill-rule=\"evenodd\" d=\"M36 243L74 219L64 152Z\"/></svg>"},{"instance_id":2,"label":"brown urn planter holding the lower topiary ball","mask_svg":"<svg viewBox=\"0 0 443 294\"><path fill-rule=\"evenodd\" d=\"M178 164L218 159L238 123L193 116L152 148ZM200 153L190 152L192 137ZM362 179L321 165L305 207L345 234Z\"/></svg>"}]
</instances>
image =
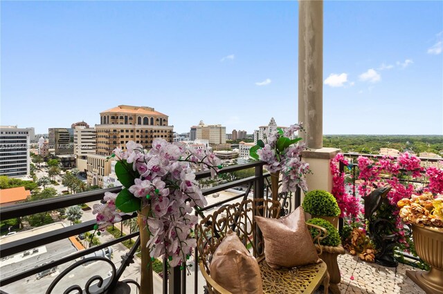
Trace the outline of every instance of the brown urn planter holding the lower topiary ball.
<instances>
[{"instance_id":1,"label":"brown urn planter holding the lower topiary ball","mask_svg":"<svg viewBox=\"0 0 443 294\"><path fill-rule=\"evenodd\" d=\"M327 265L327 272L329 273L329 291L331 291L332 294L340 294L338 284L340 284L341 281L341 273L338 267L337 257L339 254L346 253L345 248L341 245L336 247L320 246L322 250L320 258L323 259L323 262ZM318 245L316 245L316 247L318 248Z\"/></svg>"}]
</instances>

